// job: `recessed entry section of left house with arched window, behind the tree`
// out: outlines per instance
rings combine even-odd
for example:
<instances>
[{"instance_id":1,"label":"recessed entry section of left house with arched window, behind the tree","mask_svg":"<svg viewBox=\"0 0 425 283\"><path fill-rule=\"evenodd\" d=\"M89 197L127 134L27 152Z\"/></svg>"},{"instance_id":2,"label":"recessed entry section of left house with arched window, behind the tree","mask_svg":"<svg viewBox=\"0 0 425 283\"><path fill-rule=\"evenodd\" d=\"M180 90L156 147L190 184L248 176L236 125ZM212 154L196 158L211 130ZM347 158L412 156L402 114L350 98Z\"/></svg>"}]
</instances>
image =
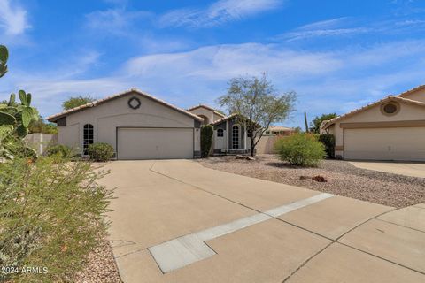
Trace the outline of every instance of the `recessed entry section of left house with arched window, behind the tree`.
<instances>
[{"instance_id":1,"label":"recessed entry section of left house with arched window, behind the tree","mask_svg":"<svg viewBox=\"0 0 425 283\"><path fill-rule=\"evenodd\" d=\"M243 154L251 152L251 141L245 126L241 125L235 114L224 116L212 107L198 105L188 109L204 119L204 124L211 124L214 129L214 154ZM205 122L206 121L206 122Z\"/></svg>"}]
</instances>

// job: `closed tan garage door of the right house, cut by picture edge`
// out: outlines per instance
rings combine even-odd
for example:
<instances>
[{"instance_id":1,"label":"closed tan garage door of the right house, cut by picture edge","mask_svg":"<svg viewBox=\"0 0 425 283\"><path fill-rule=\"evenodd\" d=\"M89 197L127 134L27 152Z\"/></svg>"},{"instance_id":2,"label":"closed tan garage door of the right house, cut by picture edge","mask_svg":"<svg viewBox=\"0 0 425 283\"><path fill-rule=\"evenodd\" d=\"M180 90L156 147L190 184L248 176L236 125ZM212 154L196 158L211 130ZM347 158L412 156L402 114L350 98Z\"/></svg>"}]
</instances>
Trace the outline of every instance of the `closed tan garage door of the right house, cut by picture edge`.
<instances>
[{"instance_id":1,"label":"closed tan garage door of the right house, cut by picture edge","mask_svg":"<svg viewBox=\"0 0 425 283\"><path fill-rule=\"evenodd\" d=\"M425 127L345 129L344 157L425 161Z\"/></svg>"}]
</instances>

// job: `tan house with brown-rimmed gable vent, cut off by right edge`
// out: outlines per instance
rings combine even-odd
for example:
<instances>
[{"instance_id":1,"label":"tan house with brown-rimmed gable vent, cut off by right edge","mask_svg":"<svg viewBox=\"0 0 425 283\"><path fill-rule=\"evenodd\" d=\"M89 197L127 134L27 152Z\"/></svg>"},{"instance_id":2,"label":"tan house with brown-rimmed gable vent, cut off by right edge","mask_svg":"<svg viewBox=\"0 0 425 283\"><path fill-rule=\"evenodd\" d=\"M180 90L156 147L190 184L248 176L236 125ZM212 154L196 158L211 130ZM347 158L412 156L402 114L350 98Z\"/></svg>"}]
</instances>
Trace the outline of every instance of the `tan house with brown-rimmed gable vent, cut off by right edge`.
<instances>
[{"instance_id":1,"label":"tan house with brown-rimmed gable vent, cut off by right edge","mask_svg":"<svg viewBox=\"0 0 425 283\"><path fill-rule=\"evenodd\" d=\"M336 157L425 161L425 85L321 124L333 134Z\"/></svg>"}]
</instances>

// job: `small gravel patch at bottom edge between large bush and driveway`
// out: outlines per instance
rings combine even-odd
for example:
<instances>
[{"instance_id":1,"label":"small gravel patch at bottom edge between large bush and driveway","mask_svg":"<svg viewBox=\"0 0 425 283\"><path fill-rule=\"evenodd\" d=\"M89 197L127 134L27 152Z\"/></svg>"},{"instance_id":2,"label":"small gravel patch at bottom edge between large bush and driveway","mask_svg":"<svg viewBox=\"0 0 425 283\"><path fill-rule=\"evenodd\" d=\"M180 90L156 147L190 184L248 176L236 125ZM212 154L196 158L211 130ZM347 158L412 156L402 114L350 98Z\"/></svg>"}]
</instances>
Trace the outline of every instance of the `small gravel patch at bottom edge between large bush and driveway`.
<instances>
[{"instance_id":1,"label":"small gravel patch at bottom edge between large bush and driveway","mask_svg":"<svg viewBox=\"0 0 425 283\"><path fill-rule=\"evenodd\" d=\"M89 254L86 268L77 274L76 283L122 283L109 241L100 241Z\"/></svg>"}]
</instances>

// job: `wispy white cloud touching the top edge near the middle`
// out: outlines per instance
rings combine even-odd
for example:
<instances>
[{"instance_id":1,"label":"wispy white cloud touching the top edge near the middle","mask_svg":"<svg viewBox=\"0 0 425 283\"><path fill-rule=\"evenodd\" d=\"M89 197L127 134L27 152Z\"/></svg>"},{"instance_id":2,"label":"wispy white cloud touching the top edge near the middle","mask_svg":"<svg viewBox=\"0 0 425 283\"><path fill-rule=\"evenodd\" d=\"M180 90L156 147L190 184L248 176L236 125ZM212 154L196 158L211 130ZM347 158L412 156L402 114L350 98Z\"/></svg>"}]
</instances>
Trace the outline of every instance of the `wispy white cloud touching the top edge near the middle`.
<instances>
[{"instance_id":1,"label":"wispy white cloud touching the top edge near the middle","mask_svg":"<svg viewBox=\"0 0 425 283\"><path fill-rule=\"evenodd\" d=\"M185 8L166 12L159 19L163 27L213 27L276 9L282 0L220 0L204 9Z\"/></svg>"}]
</instances>

